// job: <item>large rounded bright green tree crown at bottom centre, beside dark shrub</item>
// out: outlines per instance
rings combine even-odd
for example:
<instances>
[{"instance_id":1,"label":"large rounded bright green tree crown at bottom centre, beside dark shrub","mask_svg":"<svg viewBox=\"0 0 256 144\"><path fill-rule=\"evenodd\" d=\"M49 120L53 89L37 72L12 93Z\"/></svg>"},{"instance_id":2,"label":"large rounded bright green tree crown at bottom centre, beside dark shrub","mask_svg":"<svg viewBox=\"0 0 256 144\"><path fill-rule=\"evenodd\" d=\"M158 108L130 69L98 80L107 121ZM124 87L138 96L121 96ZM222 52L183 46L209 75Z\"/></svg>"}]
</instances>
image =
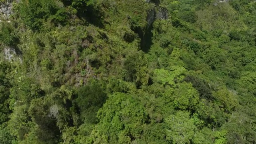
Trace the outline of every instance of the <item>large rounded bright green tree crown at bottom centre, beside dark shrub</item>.
<instances>
[{"instance_id":1,"label":"large rounded bright green tree crown at bottom centre, beside dark shrub","mask_svg":"<svg viewBox=\"0 0 256 144\"><path fill-rule=\"evenodd\" d=\"M95 143L121 144L137 140L143 124L148 120L145 108L138 99L122 93L109 96L99 110L98 118L99 124L92 132Z\"/></svg>"}]
</instances>

